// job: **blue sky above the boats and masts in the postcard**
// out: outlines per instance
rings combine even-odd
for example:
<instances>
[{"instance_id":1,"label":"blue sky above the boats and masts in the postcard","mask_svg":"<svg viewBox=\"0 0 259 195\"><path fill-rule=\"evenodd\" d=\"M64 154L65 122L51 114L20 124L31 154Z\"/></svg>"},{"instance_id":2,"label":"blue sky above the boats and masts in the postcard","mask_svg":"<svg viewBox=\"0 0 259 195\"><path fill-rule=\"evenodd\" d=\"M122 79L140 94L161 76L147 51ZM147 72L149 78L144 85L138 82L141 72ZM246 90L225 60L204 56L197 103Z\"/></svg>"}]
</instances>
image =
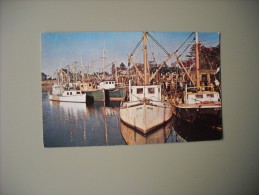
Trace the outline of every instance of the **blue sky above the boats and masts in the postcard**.
<instances>
[{"instance_id":1,"label":"blue sky above the boats and masts in the postcard","mask_svg":"<svg viewBox=\"0 0 259 195\"><path fill-rule=\"evenodd\" d=\"M169 52L175 51L189 37L191 32L149 32ZM80 62L86 67L92 64L90 73L101 70L103 50L105 50L105 64L116 61L119 65L128 64L127 56L130 54L139 40L142 32L49 32L41 34L41 65L42 72L53 75L57 69ZM192 36L182 47L184 50L190 44ZM207 46L215 46L219 43L218 33L199 33L199 40ZM142 45L141 45L142 46ZM136 51L135 61L141 62L143 57L142 47ZM153 42L148 41L148 49L154 52L148 54L155 57L157 63L163 61L166 54ZM182 57L189 52L186 50ZM181 50L179 51L181 54ZM173 62L175 59L169 61ZM78 64L79 65L79 64ZM108 71L111 67L108 67Z\"/></svg>"}]
</instances>

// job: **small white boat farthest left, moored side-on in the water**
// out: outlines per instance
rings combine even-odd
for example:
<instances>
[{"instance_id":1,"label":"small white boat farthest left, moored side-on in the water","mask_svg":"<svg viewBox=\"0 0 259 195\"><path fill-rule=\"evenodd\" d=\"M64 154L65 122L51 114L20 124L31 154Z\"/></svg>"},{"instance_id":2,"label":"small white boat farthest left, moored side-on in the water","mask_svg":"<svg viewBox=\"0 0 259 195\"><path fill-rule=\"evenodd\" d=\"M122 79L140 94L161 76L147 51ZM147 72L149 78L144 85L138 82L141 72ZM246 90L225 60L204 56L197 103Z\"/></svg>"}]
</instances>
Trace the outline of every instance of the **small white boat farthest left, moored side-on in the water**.
<instances>
[{"instance_id":1,"label":"small white boat farthest left, moored side-on in the water","mask_svg":"<svg viewBox=\"0 0 259 195\"><path fill-rule=\"evenodd\" d=\"M67 88L60 84L52 86L52 92L49 95L49 100L59 102L77 102L86 103L86 94L75 88Z\"/></svg>"}]
</instances>

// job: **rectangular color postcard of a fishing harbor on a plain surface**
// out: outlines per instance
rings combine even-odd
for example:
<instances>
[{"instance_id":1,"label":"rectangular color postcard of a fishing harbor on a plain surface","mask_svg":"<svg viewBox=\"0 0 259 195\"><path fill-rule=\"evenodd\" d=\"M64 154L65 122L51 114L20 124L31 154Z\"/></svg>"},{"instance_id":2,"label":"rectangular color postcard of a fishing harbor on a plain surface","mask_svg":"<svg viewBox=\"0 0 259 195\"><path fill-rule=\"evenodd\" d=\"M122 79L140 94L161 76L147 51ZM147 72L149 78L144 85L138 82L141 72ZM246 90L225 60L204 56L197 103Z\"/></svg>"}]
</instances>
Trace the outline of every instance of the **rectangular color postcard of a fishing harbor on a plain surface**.
<instances>
[{"instance_id":1,"label":"rectangular color postcard of a fishing harbor on a plain surface","mask_svg":"<svg viewBox=\"0 0 259 195\"><path fill-rule=\"evenodd\" d=\"M41 34L44 147L221 140L218 32Z\"/></svg>"}]
</instances>

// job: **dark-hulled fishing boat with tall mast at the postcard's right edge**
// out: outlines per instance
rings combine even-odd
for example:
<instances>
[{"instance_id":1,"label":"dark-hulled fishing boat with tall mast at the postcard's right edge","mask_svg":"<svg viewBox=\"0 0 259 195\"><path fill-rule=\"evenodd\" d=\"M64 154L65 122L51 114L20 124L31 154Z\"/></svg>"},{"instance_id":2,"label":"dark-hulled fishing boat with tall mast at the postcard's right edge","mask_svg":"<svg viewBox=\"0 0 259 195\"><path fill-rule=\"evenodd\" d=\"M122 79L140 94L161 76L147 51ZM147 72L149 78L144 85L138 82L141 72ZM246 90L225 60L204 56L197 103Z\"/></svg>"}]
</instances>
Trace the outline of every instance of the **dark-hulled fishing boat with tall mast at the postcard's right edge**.
<instances>
[{"instance_id":1,"label":"dark-hulled fishing boat with tall mast at the postcard's right edge","mask_svg":"<svg viewBox=\"0 0 259 195\"><path fill-rule=\"evenodd\" d=\"M215 90L215 86L210 81L206 83L206 86L203 83L201 84L200 81L200 78L205 73L200 71L199 41L197 32L195 34L195 50L196 83L186 72L186 75L189 77L190 84L186 84L181 96L177 96L175 98L174 112L176 116L188 122L193 122L197 118L211 118L211 116L213 119L218 120L218 118L221 117L220 93ZM182 65L181 62L180 64ZM182 67L184 68L183 65ZM213 71L206 73L208 78L211 73L215 74Z\"/></svg>"}]
</instances>

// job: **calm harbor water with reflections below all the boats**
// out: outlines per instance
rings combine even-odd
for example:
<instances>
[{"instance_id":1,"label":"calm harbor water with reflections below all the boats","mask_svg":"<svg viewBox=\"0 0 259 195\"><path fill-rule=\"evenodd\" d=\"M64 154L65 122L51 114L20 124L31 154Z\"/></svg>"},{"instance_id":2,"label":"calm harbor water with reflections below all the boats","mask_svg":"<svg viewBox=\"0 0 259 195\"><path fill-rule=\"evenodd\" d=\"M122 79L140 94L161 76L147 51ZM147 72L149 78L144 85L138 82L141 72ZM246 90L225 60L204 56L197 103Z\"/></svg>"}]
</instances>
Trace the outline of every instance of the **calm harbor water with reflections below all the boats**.
<instances>
[{"instance_id":1,"label":"calm harbor water with reflections below all the boats","mask_svg":"<svg viewBox=\"0 0 259 195\"><path fill-rule=\"evenodd\" d=\"M143 136L120 121L119 104L52 102L48 93L43 92L44 146L136 145L222 139L222 131L215 127L190 125L175 117Z\"/></svg>"}]
</instances>

